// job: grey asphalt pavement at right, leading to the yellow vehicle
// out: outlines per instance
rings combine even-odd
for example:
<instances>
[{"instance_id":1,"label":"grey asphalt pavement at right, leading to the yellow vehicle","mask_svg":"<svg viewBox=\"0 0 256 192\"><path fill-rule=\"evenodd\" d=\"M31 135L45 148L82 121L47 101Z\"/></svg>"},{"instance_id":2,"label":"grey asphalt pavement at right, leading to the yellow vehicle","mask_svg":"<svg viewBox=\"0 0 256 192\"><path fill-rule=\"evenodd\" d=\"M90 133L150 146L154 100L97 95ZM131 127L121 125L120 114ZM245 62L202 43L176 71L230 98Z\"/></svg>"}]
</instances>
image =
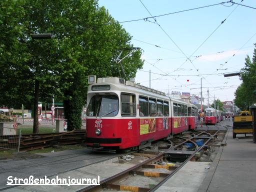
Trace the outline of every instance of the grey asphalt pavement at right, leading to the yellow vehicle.
<instances>
[{"instance_id":1,"label":"grey asphalt pavement at right, leading to the yellow vehicle","mask_svg":"<svg viewBox=\"0 0 256 192\"><path fill-rule=\"evenodd\" d=\"M256 191L256 143L252 134L232 137L232 121L225 120L227 134L198 192Z\"/></svg>"}]
</instances>

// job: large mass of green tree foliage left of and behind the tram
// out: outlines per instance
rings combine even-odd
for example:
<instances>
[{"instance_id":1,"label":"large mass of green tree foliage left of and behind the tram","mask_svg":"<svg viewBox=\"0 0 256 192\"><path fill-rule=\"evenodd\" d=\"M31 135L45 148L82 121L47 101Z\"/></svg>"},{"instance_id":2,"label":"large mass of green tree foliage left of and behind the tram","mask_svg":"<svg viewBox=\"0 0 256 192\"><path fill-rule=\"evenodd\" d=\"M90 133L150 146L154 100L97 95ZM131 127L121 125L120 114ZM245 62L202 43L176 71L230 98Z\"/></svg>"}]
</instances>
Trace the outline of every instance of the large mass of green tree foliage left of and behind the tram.
<instances>
[{"instance_id":1,"label":"large mass of green tree foliage left of and behind the tram","mask_svg":"<svg viewBox=\"0 0 256 192\"><path fill-rule=\"evenodd\" d=\"M0 104L33 101L36 111L38 100L46 101L54 94L64 100L68 129L80 128L87 75L120 76L115 58L118 50L133 46L131 36L98 6L97 0L0 3L0 27L4 31L0 39L6 39L0 41L0 82L4 85ZM54 38L31 39L31 33L43 32L52 32ZM122 61L127 78L135 77L142 68L140 56L138 50Z\"/></svg>"}]
</instances>

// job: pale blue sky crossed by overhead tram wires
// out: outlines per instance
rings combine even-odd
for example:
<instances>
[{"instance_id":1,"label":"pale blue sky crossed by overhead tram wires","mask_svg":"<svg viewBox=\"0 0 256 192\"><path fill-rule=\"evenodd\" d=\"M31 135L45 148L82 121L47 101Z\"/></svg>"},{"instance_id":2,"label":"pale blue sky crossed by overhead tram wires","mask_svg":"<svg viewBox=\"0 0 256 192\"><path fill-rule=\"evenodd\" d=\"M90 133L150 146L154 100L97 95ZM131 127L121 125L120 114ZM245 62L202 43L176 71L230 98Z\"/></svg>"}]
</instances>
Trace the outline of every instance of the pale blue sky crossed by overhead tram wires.
<instances>
[{"instance_id":1,"label":"pale blue sky crossed by overhead tram wires","mask_svg":"<svg viewBox=\"0 0 256 192\"><path fill-rule=\"evenodd\" d=\"M119 22L145 18L121 23L133 46L143 50L144 64L136 73L136 83L149 87L150 70L151 88L199 96L202 78L207 104L207 89L209 103L214 97L235 98L241 80L223 73L240 71L245 57L252 58L256 43L256 0L221 2L226 1L99 0L98 4ZM207 7L197 8L202 6ZM187 10L192 8L197 9ZM162 14L167 15L147 18Z\"/></svg>"}]
</instances>

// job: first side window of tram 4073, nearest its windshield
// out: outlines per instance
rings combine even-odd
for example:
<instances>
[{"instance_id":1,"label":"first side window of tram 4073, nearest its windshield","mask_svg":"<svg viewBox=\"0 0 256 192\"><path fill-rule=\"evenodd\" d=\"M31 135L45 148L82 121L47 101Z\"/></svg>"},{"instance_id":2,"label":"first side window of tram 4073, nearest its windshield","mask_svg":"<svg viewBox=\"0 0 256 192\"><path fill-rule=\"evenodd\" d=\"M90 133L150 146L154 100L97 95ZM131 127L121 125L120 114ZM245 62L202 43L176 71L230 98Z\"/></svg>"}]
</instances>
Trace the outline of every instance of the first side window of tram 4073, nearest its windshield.
<instances>
[{"instance_id":1,"label":"first side window of tram 4073, nearest its windshield","mask_svg":"<svg viewBox=\"0 0 256 192\"><path fill-rule=\"evenodd\" d=\"M121 93L121 115L135 116L136 115L136 101L134 94Z\"/></svg>"}]
</instances>

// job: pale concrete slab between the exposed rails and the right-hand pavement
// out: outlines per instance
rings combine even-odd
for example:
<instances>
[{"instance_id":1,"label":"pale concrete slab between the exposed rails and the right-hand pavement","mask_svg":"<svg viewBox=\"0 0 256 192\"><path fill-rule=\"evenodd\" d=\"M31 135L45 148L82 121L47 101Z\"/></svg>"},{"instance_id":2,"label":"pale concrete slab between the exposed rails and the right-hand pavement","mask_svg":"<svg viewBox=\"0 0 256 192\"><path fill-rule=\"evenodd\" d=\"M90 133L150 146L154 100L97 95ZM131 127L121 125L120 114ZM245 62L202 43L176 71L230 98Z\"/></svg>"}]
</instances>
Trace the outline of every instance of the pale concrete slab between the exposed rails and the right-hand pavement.
<instances>
[{"instance_id":1,"label":"pale concrete slab between the exposed rails and the right-hand pavement","mask_svg":"<svg viewBox=\"0 0 256 192\"><path fill-rule=\"evenodd\" d=\"M211 162L188 161L156 191L197 191Z\"/></svg>"}]
</instances>

